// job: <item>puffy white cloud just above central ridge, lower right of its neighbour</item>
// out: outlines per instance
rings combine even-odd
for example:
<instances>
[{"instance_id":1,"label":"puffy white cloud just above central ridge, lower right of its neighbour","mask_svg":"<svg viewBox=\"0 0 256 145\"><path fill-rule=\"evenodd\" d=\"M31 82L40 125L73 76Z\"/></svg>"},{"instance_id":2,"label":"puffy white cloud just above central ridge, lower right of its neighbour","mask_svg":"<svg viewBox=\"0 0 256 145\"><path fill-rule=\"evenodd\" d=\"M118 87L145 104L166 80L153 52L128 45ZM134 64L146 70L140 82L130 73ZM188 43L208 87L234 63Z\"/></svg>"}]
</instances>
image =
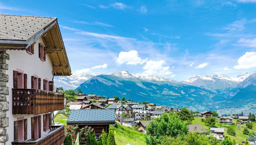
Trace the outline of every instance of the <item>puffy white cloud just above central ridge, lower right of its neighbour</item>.
<instances>
[{"instance_id":1,"label":"puffy white cloud just above central ridge, lower right of its neighbour","mask_svg":"<svg viewBox=\"0 0 256 145\"><path fill-rule=\"evenodd\" d=\"M149 60L144 65L143 69L144 71L141 75L142 76L148 76L148 75L159 75L159 76L169 76L172 74L172 72L169 70L170 66L164 66L166 62L164 60L159 61L152 61Z\"/></svg>"}]
</instances>

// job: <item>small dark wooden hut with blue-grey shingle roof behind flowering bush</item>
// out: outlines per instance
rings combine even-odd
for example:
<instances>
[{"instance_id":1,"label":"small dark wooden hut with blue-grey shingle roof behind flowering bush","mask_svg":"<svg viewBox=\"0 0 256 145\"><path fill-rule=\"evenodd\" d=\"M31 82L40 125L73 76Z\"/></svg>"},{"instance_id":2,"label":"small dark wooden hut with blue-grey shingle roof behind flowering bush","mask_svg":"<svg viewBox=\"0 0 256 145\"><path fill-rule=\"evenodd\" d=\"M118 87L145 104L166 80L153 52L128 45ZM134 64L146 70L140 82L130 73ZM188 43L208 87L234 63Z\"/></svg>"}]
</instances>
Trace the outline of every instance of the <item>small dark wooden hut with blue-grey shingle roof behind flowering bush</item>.
<instances>
[{"instance_id":1,"label":"small dark wooden hut with blue-grey shingle roof behind flowering bush","mask_svg":"<svg viewBox=\"0 0 256 145\"><path fill-rule=\"evenodd\" d=\"M78 124L79 127L88 125L96 135L101 135L102 129L109 133L109 125L115 124L115 112L112 109L71 110L67 124Z\"/></svg>"}]
</instances>

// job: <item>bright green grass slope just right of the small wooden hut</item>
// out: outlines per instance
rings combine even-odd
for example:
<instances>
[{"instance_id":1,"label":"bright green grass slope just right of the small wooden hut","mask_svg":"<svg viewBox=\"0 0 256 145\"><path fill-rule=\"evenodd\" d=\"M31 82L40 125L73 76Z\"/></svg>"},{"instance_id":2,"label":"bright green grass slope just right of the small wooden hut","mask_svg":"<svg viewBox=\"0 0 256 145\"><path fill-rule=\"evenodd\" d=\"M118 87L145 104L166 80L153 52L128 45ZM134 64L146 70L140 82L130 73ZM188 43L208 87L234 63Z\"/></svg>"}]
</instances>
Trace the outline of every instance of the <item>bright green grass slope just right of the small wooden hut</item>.
<instances>
[{"instance_id":1,"label":"bright green grass slope just right of the small wooden hut","mask_svg":"<svg viewBox=\"0 0 256 145\"><path fill-rule=\"evenodd\" d=\"M120 123L117 124L118 128L113 125L109 126L109 129L114 129L116 145L126 145L128 143L131 145L146 145L144 133L140 133L132 127L121 126Z\"/></svg>"}]
</instances>

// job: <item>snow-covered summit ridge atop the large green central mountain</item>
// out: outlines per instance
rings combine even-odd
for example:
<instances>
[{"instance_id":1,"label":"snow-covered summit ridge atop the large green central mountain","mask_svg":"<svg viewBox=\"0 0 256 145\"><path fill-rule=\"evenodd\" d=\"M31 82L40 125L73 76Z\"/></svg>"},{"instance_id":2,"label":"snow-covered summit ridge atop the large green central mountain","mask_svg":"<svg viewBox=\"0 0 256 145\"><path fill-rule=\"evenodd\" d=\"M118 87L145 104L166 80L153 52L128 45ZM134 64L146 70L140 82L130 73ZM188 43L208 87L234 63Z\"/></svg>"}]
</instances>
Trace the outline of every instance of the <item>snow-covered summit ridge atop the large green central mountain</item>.
<instances>
[{"instance_id":1,"label":"snow-covered summit ridge atop the large green central mountain","mask_svg":"<svg viewBox=\"0 0 256 145\"><path fill-rule=\"evenodd\" d=\"M178 83L175 80L171 80L171 79L166 79L165 77L161 77L161 76L154 76L154 75L149 75L149 76L140 76L138 74L134 75L129 73L126 70L121 70L118 73L112 73L111 75L116 76L116 77L120 77L120 78L137 78L137 79L141 79L141 80L146 80L146 81L169 81L169 82L175 82Z\"/></svg>"}]
</instances>

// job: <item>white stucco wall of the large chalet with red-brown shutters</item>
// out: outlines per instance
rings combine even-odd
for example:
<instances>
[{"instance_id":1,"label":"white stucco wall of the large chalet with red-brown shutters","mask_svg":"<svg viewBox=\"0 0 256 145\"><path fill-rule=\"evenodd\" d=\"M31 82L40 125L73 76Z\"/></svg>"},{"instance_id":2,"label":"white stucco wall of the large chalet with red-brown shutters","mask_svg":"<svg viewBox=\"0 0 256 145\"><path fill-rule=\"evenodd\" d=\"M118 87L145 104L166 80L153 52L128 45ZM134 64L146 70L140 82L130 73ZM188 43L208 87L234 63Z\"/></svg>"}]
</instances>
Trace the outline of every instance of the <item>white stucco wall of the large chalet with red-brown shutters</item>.
<instances>
[{"instance_id":1,"label":"white stucco wall of the large chalet with red-brown shutters","mask_svg":"<svg viewBox=\"0 0 256 145\"><path fill-rule=\"evenodd\" d=\"M6 116L9 118L9 126L6 127L7 134L9 135L9 141L6 145L11 144L14 141L14 121L19 117L28 119L28 139L31 139L31 117L34 115L13 115L12 114L12 88L13 88L13 70L21 69L24 74L28 75L27 88L31 89L31 76L37 75L41 78L41 89L43 89L43 79L47 78L52 81L52 63L46 54L46 61L42 61L39 58L39 43L43 44L42 38L36 41L34 46L34 54L30 55L25 50L7 50L6 53L10 55L10 60L6 60L8 64L8 70L6 74L9 75L9 81L6 84L9 87L9 95L6 96L7 102L9 102L9 111ZM43 44L44 45L44 44ZM44 45L45 46L45 45ZM45 113L43 113L45 114ZM38 115L43 115L38 114ZM53 115L52 115L53 116ZM43 116L41 116L41 137L47 135L50 131L43 132Z\"/></svg>"}]
</instances>

